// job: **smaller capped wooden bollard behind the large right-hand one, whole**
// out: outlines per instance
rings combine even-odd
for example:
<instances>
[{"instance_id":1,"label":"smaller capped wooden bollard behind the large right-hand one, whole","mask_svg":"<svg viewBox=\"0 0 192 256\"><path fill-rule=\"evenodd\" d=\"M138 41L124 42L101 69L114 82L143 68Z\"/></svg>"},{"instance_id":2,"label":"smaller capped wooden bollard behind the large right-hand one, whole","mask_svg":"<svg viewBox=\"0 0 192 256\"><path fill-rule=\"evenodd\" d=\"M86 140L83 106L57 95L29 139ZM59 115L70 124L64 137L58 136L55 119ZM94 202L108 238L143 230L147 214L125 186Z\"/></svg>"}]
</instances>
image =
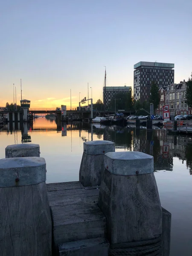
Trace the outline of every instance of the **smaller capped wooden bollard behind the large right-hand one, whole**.
<instances>
[{"instance_id":1,"label":"smaller capped wooden bollard behind the large right-hand one, whole","mask_svg":"<svg viewBox=\"0 0 192 256\"><path fill-rule=\"evenodd\" d=\"M115 151L115 143L95 140L83 143L83 156L79 170L79 181L83 186L100 186L105 153Z\"/></svg>"}]
</instances>

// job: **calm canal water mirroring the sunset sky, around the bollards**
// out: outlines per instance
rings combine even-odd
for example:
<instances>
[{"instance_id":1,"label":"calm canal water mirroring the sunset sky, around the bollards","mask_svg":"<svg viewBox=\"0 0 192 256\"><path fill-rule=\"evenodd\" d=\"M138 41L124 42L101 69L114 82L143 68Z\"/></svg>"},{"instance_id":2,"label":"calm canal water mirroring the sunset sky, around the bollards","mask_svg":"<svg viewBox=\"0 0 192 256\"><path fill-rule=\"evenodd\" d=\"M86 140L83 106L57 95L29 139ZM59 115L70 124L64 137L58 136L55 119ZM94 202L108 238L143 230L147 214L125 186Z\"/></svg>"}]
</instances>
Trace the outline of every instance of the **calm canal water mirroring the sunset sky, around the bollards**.
<instances>
[{"instance_id":1,"label":"calm canal water mirroring the sunset sky, around the bollards","mask_svg":"<svg viewBox=\"0 0 192 256\"><path fill-rule=\"evenodd\" d=\"M116 151L153 155L161 205L172 213L170 256L192 255L192 138L170 136L162 129L147 133L145 129L81 122L59 127L45 118L35 119L32 127L14 125L0 129L0 158L5 157L7 145L21 141L40 144L47 183L79 180L84 141L111 140Z\"/></svg>"}]
</instances>

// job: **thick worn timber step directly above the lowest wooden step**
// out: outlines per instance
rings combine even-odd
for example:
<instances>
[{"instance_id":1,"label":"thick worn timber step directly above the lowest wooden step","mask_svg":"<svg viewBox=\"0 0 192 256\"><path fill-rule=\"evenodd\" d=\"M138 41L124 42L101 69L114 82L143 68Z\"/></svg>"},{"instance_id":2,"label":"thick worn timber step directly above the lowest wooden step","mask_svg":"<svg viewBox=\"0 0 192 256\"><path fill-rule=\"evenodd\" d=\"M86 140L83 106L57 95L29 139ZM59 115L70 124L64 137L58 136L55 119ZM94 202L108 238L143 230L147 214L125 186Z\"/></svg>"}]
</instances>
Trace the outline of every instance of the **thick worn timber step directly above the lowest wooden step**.
<instances>
[{"instance_id":1,"label":"thick worn timber step directly above the lowest wooden step","mask_svg":"<svg viewBox=\"0 0 192 256\"><path fill-rule=\"evenodd\" d=\"M105 237L106 219L97 204L52 207L55 245L69 241Z\"/></svg>"}]
</instances>

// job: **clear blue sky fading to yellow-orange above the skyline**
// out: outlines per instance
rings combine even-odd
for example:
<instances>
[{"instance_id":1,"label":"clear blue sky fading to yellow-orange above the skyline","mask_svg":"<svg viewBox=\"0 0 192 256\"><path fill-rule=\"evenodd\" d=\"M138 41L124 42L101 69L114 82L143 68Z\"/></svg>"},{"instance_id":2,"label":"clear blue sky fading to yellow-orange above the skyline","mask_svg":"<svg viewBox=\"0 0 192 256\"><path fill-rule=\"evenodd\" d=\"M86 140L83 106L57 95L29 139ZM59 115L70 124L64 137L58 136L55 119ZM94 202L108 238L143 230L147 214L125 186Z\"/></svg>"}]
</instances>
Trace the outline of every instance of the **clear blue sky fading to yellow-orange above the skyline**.
<instances>
[{"instance_id":1,"label":"clear blue sky fading to yellow-orange above the skyline","mask_svg":"<svg viewBox=\"0 0 192 256\"><path fill-rule=\"evenodd\" d=\"M175 64L175 83L192 73L191 0L9 0L0 2L0 106L72 108L102 99L107 86L133 87L134 64ZM79 94L80 93L80 94Z\"/></svg>"}]
</instances>

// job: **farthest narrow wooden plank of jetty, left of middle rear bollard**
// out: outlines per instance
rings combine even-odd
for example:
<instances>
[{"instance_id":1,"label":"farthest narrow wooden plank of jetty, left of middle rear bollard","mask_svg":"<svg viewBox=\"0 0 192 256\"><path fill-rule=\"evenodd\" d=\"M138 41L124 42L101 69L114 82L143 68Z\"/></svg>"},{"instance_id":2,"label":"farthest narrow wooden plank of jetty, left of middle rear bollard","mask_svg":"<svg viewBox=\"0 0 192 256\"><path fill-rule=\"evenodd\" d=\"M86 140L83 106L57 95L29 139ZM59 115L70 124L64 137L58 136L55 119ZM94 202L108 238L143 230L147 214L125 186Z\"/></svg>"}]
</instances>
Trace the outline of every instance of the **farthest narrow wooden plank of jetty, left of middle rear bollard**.
<instances>
[{"instance_id":1,"label":"farthest narrow wooden plank of jetty, left of middle rear bollard","mask_svg":"<svg viewBox=\"0 0 192 256\"><path fill-rule=\"evenodd\" d=\"M48 183L47 191L67 190L67 189L82 189L84 186L80 181L70 181L61 183Z\"/></svg>"}]
</instances>

